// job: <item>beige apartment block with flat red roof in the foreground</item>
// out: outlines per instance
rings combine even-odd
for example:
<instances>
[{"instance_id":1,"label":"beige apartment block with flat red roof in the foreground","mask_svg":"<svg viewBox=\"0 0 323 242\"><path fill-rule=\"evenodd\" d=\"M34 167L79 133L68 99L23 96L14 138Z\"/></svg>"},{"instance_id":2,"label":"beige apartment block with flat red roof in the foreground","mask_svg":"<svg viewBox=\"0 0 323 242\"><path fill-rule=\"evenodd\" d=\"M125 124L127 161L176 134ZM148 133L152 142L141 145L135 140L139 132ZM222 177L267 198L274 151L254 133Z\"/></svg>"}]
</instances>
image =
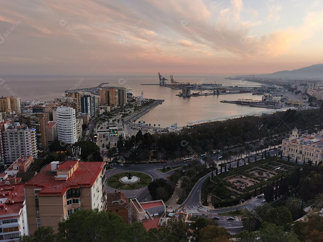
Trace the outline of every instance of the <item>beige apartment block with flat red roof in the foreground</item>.
<instances>
[{"instance_id":1,"label":"beige apartment block with flat red roof in the foreground","mask_svg":"<svg viewBox=\"0 0 323 242\"><path fill-rule=\"evenodd\" d=\"M53 161L25 185L30 233L52 226L78 209L103 210L106 203L105 163Z\"/></svg>"}]
</instances>

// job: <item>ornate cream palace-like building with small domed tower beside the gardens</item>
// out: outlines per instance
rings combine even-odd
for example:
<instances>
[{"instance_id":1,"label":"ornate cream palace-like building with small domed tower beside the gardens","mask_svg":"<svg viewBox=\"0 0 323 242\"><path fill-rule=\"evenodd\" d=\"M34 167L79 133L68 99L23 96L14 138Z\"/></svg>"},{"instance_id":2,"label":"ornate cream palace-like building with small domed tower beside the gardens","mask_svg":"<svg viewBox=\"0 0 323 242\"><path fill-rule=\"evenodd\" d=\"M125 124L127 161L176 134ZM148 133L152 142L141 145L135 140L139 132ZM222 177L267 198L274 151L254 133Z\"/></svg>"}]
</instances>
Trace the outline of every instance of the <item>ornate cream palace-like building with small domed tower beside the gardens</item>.
<instances>
[{"instance_id":1,"label":"ornate cream palace-like building with small domed tower beside the gardens","mask_svg":"<svg viewBox=\"0 0 323 242\"><path fill-rule=\"evenodd\" d=\"M298 134L297 128L294 128L289 138L282 141L283 156L298 161L309 161L318 163L323 156L323 130L311 135L305 133Z\"/></svg>"}]
</instances>

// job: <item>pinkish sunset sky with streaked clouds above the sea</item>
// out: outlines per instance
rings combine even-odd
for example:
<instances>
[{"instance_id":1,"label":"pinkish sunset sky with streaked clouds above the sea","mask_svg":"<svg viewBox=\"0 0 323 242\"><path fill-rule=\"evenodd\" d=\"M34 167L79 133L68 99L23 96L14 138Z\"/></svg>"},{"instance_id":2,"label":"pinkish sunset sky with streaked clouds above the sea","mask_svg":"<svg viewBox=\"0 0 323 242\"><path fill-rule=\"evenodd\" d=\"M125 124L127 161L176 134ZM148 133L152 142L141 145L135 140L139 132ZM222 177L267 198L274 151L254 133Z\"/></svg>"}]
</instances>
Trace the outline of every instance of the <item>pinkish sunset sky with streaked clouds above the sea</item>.
<instances>
[{"instance_id":1,"label":"pinkish sunset sky with streaked clouds above the sea","mask_svg":"<svg viewBox=\"0 0 323 242\"><path fill-rule=\"evenodd\" d=\"M319 0L4 0L0 74L259 74L323 63Z\"/></svg>"}]
</instances>

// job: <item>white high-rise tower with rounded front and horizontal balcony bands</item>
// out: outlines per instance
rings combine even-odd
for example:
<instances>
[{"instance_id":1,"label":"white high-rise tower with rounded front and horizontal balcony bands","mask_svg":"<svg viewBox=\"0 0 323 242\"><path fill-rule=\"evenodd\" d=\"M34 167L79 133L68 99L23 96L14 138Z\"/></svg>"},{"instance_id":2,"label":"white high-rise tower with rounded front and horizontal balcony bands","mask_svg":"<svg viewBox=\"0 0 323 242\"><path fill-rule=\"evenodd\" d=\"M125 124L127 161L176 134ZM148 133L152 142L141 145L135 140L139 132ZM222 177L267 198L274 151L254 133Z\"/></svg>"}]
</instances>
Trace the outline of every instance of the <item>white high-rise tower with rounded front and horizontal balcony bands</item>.
<instances>
[{"instance_id":1,"label":"white high-rise tower with rounded front and horizontal balcony bands","mask_svg":"<svg viewBox=\"0 0 323 242\"><path fill-rule=\"evenodd\" d=\"M68 144L77 142L75 109L71 107L57 107L57 137Z\"/></svg>"}]
</instances>

